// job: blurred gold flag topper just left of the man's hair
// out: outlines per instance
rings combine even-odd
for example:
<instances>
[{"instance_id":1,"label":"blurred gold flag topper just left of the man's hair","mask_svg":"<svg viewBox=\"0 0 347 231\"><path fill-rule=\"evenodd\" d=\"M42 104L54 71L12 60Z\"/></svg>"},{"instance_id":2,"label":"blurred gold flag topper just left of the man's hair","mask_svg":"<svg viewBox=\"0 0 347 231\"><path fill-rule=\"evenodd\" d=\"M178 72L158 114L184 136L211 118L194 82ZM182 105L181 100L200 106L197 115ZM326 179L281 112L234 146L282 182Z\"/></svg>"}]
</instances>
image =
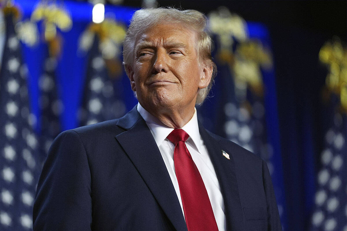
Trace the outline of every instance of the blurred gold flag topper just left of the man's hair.
<instances>
[{"instance_id":1,"label":"blurred gold flag topper just left of the man's hair","mask_svg":"<svg viewBox=\"0 0 347 231\"><path fill-rule=\"evenodd\" d=\"M118 55L121 52L125 33L125 27L113 19L105 19L98 24L91 23L80 38L79 50L88 51L93 44L94 36L98 36L100 39L99 50L105 60L110 76L117 77L122 70Z\"/></svg>"}]
</instances>

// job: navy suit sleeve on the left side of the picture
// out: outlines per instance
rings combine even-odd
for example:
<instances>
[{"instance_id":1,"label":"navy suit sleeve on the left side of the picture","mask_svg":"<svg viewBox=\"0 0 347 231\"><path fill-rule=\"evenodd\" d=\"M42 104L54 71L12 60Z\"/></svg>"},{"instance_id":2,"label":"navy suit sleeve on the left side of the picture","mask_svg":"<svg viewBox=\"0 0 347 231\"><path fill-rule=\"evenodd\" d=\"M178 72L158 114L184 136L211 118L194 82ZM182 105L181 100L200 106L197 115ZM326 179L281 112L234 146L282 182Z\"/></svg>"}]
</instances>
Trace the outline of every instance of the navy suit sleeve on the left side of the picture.
<instances>
[{"instance_id":1,"label":"navy suit sleeve on the left side of the picture","mask_svg":"<svg viewBox=\"0 0 347 231\"><path fill-rule=\"evenodd\" d=\"M53 142L36 190L34 230L90 230L91 173L84 145L73 131Z\"/></svg>"}]
</instances>

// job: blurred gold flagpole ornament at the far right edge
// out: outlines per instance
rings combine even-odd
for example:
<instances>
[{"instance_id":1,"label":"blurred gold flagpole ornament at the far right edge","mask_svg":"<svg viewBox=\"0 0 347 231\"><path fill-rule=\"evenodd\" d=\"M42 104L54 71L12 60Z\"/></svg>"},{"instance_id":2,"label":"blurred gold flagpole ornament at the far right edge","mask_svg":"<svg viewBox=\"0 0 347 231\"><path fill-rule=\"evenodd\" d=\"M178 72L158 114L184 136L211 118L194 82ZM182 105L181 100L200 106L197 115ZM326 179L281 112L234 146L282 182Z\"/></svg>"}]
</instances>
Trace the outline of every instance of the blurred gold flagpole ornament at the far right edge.
<instances>
[{"instance_id":1,"label":"blurred gold flagpole ornament at the far right edge","mask_svg":"<svg viewBox=\"0 0 347 231\"><path fill-rule=\"evenodd\" d=\"M319 59L327 65L325 79L327 89L340 97L343 110L347 112L347 49L338 37L326 42L319 51Z\"/></svg>"}]
</instances>

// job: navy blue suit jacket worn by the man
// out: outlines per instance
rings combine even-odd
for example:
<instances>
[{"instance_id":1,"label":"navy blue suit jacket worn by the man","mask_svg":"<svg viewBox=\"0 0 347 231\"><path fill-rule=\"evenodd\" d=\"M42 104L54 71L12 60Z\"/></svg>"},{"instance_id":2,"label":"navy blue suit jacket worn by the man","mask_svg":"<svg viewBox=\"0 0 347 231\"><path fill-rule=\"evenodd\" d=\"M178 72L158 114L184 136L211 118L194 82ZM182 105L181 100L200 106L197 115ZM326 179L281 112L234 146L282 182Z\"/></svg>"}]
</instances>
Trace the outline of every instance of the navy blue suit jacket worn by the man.
<instances>
[{"instance_id":1,"label":"navy blue suit jacket worn by the man","mask_svg":"<svg viewBox=\"0 0 347 231\"><path fill-rule=\"evenodd\" d=\"M266 163L201 124L199 130L219 180L227 230L280 231ZM33 222L34 230L187 230L158 146L136 107L120 119L56 138L37 186Z\"/></svg>"}]
</instances>

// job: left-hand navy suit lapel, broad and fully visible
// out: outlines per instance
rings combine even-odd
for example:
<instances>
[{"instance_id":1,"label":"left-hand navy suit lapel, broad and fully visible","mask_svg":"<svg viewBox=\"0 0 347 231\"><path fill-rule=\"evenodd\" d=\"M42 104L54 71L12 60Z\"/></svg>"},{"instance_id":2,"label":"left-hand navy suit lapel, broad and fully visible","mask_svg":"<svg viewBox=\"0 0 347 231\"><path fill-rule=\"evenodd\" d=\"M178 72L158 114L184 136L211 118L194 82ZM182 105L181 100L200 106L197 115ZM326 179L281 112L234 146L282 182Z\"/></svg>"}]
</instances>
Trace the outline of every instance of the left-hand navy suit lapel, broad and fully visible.
<instances>
[{"instance_id":1,"label":"left-hand navy suit lapel, broad and fully visible","mask_svg":"<svg viewBox=\"0 0 347 231\"><path fill-rule=\"evenodd\" d=\"M187 230L175 188L151 131L134 107L117 123L127 131L116 139L176 230Z\"/></svg>"}]
</instances>

